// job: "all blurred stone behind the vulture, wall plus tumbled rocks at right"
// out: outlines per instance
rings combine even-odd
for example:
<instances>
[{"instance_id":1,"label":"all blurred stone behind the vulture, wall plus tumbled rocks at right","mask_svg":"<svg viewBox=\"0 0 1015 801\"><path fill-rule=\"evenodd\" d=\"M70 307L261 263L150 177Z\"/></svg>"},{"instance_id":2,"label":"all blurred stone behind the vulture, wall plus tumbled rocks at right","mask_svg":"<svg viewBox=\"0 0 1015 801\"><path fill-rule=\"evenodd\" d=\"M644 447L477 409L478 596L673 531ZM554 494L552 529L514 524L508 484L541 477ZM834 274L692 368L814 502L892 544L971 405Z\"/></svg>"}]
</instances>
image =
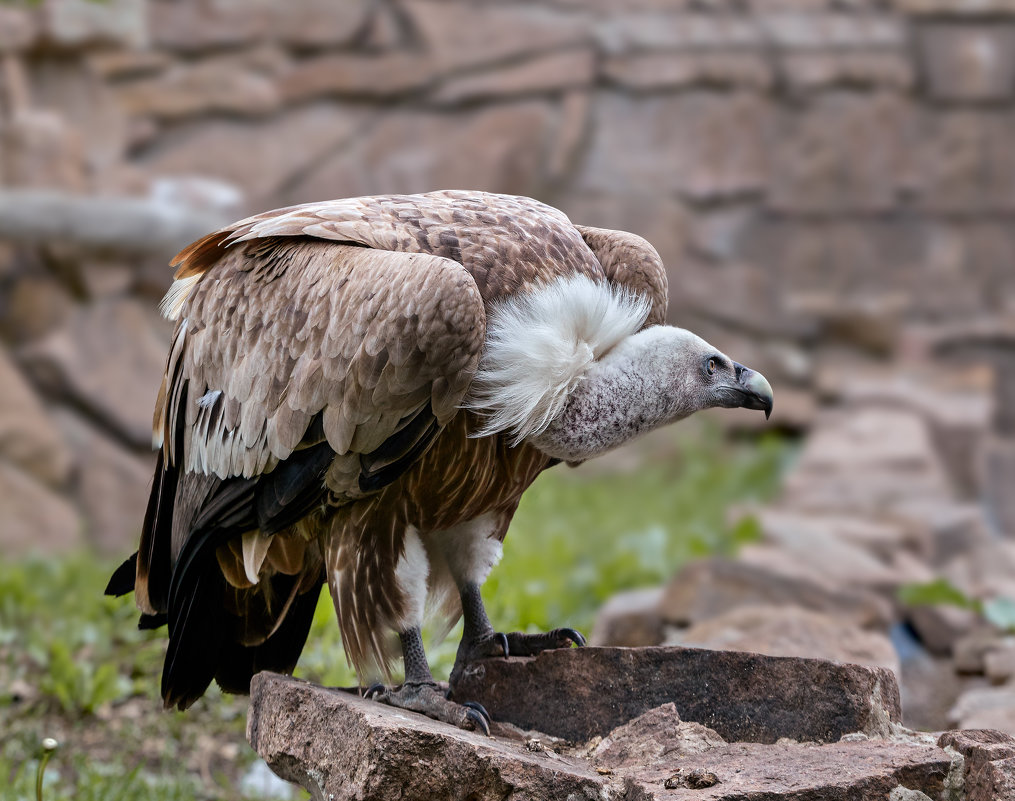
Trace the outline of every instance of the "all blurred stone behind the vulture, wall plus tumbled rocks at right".
<instances>
[{"instance_id":1,"label":"all blurred stone behind the vulture, wall plus tumbled rocks at right","mask_svg":"<svg viewBox=\"0 0 1015 801\"><path fill-rule=\"evenodd\" d=\"M0 3L4 555L131 547L179 247L526 194L648 238L672 321L804 438L760 543L616 599L599 642L866 654L915 724L1015 731L1005 625L896 600L1015 598L1013 142L1008 0Z\"/></svg>"}]
</instances>

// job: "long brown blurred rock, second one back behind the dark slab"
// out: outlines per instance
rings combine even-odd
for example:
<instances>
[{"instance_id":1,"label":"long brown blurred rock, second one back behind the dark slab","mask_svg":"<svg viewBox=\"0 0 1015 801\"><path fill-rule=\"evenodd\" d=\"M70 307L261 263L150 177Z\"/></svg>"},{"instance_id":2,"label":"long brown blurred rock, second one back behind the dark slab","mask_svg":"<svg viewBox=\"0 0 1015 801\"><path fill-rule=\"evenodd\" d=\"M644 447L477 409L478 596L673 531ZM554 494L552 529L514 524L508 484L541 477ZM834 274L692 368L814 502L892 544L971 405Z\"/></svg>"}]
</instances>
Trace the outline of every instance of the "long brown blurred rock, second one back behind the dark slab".
<instances>
[{"instance_id":1,"label":"long brown blurred rock, second one back behind the dark slab","mask_svg":"<svg viewBox=\"0 0 1015 801\"><path fill-rule=\"evenodd\" d=\"M862 626L887 627L892 617L889 603L873 593L723 558L692 561L680 570L666 585L657 614L667 623L693 625L738 607L758 605L800 606L834 613Z\"/></svg>"}]
</instances>

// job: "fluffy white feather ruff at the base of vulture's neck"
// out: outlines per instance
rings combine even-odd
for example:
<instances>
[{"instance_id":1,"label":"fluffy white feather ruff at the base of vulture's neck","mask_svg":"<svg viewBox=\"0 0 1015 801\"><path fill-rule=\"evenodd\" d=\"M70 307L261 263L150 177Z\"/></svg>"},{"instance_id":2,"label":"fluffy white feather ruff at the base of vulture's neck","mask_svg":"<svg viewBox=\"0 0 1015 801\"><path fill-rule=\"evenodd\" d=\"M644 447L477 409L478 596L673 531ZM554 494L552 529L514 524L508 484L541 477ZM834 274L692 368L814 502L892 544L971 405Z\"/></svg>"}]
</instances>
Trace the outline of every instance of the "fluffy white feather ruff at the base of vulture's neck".
<instances>
[{"instance_id":1,"label":"fluffy white feather ruff at the base of vulture's neck","mask_svg":"<svg viewBox=\"0 0 1015 801\"><path fill-rule=\"evenodd\" d=\"M519 294L487 317L486 349L465 408L484 418L473 437L541 433L596 359L636 333L651 302L573 275Z\"/></svg>"}]
</instances>

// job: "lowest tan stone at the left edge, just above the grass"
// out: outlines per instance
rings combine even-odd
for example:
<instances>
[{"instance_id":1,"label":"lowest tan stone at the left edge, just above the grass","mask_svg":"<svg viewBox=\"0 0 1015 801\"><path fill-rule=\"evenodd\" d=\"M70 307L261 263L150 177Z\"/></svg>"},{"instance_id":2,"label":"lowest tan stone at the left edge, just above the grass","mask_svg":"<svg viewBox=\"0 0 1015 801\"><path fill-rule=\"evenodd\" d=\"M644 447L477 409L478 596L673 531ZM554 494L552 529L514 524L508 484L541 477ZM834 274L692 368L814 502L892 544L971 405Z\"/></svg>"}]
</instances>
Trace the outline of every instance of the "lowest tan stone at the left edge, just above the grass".
<instances>
[{"instance_id":1,"label":"lowest tan stone at the left edge, just above the grass","mask_svg":"<svg viewBox=\"0 0 1015 801\"><path fill-rule=\"evenodd\" d=\"M67 553L83 544L74 509L55 491L0 459L0 509L4 558L26 553Z\"/></svg>"}]
</instances>

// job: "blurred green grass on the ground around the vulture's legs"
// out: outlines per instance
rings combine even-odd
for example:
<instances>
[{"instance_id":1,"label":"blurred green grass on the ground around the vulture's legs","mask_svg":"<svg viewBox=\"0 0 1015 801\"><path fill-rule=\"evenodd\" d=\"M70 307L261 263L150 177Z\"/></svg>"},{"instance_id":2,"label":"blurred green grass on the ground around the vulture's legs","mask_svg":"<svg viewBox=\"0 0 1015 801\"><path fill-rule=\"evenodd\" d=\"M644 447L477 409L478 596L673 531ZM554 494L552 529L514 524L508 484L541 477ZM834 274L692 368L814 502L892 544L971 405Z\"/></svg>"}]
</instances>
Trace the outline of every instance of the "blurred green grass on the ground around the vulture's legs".
<instances>
[{"instance_id":1,"label":"blurred green grass on the ground around the vulture's legs","mask_svg":"<svg viewBox=\"0 0 1015 801\"><path fill-rule=\"evenodd\" d=\"M483 588L494 625L589 631L614 592L664 582L690 558L732 553L756 536L731 507L770 495L789 448L731 444L685 426L665 459L636 472L581 475L559 466L526 493L501 563ZM32 799L44 737L61 742L47 801L242 799L255 755L246 700L210 690L163 713L164 629L139 631L132 600L103 596L115 563L89 553L0 564L0 799ZM429 650L447 677L459 631ZM323 593L297 675L354 683Z\"/></svg>"}]
</instances>

